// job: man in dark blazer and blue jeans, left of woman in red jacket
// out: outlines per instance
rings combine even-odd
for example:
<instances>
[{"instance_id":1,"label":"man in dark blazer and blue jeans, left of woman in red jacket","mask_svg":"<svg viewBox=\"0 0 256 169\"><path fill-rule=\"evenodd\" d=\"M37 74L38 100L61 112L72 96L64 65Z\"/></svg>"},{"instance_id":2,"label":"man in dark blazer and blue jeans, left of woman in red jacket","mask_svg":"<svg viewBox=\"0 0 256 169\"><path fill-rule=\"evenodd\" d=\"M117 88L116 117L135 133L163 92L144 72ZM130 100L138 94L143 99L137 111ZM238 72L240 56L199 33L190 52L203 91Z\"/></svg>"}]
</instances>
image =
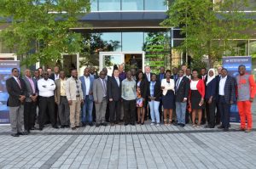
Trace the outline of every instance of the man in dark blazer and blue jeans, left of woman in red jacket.
<instances>
[{"instance_id":1,"label":"man in dark blazer and blue jeans, left of woman in red jacket","mask_svg":"<svg viewBox=\"0 0 256 169\"><path fill-rule=\"evenodd\" d=\"M175 85L177 125L179 125L180 127L184 127L186 124L185 116L190 86L189 79L183 75L184 71L179 70L178 79Z\"/></svg>"}]
</instances>

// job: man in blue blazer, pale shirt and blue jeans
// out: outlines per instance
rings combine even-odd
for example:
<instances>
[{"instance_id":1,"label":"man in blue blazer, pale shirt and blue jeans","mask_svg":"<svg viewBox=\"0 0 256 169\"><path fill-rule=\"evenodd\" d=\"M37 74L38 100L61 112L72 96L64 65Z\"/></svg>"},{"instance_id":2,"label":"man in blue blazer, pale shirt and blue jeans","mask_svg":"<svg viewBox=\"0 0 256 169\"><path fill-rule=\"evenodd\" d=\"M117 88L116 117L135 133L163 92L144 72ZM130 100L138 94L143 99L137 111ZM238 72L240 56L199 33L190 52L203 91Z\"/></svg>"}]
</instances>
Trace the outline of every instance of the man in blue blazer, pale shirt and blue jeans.
<instances>
[{"instance_id":1,"label":"man in blue blazer, pale shirt and blue jeans","mask_svg":"<svg viewBox=\"0 0 256 169\"><path fill-rule=\"evenodd\" d=\"M79 77L82 82L82 91L84 95L84 104L82 110L82 125L85 126L85 123L88 122L90 127L93 126L92 120L92 109L93 109L93 93L92 85L94 78L90 76L90 69L84 69L84 76Z\"/></svg>"}]
</instances>

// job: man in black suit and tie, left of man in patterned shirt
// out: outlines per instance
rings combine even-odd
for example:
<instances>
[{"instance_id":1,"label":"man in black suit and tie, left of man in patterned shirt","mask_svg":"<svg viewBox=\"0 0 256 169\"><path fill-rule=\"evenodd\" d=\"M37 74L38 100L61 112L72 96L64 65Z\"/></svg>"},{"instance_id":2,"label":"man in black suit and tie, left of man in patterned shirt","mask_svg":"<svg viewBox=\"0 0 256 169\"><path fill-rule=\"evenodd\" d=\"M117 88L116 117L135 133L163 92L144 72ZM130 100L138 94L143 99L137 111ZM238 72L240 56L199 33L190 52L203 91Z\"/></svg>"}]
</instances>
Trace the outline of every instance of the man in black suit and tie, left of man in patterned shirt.
<instances>
[{"instance_id":1,"label":"man in black suit and tie, left of man in patterned shirt","mask_svg":"<svg viewBox=\"0 0 256 169\"><path fill-rule=\"evenodd\" d=\"M108 100L110 108L110 123L119 123L121 109L122 82L119 78L119 70L113 70L113 76L108 81Z\"/></svg>"}]
</instances>

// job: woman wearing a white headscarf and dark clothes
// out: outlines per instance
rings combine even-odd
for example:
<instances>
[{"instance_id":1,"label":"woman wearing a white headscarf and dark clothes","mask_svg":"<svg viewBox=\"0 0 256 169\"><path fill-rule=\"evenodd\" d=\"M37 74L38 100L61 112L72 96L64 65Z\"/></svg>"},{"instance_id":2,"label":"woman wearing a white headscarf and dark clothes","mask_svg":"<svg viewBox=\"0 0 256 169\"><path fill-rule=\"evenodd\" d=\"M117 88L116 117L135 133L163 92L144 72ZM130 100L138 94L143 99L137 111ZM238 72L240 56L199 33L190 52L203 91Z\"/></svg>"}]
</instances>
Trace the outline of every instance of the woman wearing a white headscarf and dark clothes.
<instances>
[{"instance_id":1,"label":"woman wearing a white headscarf and dark clothes","mask_svg":"<svg viewBox=\"0 0 256 169\"><path fill-rule=\"evenodd\" d=\"M207 128L215 127L215 109L216 109L216 86L215 70L208 70L206 83L206 111L207 111Z\"/></svg>"}]
</instances>

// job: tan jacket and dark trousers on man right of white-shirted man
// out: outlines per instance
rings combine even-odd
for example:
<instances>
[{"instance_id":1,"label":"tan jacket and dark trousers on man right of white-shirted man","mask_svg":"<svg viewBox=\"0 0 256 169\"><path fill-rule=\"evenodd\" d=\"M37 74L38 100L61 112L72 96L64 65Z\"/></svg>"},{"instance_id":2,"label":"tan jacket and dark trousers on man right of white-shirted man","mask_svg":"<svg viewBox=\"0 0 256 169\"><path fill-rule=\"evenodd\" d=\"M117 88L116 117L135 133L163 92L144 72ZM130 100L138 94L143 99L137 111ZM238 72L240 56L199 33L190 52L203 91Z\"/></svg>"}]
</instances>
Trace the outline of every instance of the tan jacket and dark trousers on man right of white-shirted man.
<instances>
[{"instance_id":1,"label":"tan jacket and dark trousers on man right of white-shirted man","mask_svg":"<svg viewBox=\"0 0 256 169\"><path fill-rule=\"evenodd\" d=\"M67 82L67 78L65 78L65 82ZM61 126L69 125L69 104L67 101L67 96L61 96L61 79L55 80L55 103L58 105L58 115L61 121ZM64 91L66 87L64 85Z\"/></svg>"}]
</instances>

